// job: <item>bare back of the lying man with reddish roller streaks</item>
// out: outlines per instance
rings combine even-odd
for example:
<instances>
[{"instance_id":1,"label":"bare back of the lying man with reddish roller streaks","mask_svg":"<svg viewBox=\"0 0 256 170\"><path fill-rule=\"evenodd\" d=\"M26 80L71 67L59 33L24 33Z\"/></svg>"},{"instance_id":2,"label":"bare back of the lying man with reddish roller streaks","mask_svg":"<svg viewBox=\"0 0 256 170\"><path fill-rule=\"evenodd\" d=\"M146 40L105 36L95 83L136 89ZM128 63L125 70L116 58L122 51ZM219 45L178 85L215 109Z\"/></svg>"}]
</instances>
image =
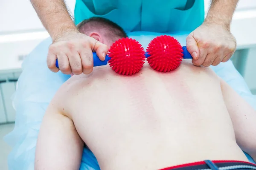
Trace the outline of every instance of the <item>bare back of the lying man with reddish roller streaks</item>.
<instances>
[{"instance_id":1,"label":"bare back of the lying man with reddish roller streaks","mask_svg":"<svg viewBox=\"0 0 256 170\"><path fill-rule=\"evenodd\" d=\"M70 78L64 89L63 114L104 169L247 160L236 144L220 79L209 68L183 60L170 73L145 65L134 76L119 76L105 66Z\"/></svg>"}]
</instances>

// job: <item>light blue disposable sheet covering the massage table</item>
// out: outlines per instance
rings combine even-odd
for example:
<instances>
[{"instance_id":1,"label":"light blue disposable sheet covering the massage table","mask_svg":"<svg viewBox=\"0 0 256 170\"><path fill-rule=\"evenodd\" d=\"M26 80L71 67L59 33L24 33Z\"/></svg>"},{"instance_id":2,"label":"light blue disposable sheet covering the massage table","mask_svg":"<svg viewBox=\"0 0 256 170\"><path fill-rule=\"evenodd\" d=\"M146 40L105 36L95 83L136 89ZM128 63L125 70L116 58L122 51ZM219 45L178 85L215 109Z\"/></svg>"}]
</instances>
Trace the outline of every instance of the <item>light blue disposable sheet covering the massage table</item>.
<instances>
[{"instance_id":1,"label":"light blue disposable sheet covering the massage table","mask_svg":"<svg viewBox=\"0 0 256 170\"><path fill-rule=\"evenodd\" d=\"M146 49L148 43L160 34L133 32L129 36L138 40ZM172 34L186 45L186 33ZM12 97L16 109L14 130L5 137L13 149L8 157L9 170L33 170L36 140L44 112L58 88L70 78L69 75L52 73L47 68L46 57L51 39L41 42L25 59L23 72L17 82L17 91ZM255 110L253 96L243 77L231 61L212 66L212 69L240 94ZM250 159L250 157L248 156ZM250 159L252 161L252 159ZM93 154L84 149L80 170L99 170Z\"/></svg>"}]
</instances>

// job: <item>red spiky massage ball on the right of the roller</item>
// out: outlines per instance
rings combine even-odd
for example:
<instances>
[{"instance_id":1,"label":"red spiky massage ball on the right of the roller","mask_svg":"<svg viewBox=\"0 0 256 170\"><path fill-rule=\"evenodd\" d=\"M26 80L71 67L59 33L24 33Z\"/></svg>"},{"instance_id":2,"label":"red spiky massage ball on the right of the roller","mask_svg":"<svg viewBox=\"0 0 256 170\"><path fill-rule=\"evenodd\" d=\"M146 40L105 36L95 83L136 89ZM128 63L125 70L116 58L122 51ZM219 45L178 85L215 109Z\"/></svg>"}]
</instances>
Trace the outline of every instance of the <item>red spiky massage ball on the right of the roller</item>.
<instances>
[{"instance_id":1,"label":"red spiky massage ball on the right of the roller","mask_svg":"<svg viewBox=\"0 0 256 170\"><path fill-rule=\"evenodd\" d=\"M180 42L169 35L161 35L151 40L146 51L150 55L147 58L148 64L160 72L175 70L183 58Z\"/></svg>"}]
</instances>

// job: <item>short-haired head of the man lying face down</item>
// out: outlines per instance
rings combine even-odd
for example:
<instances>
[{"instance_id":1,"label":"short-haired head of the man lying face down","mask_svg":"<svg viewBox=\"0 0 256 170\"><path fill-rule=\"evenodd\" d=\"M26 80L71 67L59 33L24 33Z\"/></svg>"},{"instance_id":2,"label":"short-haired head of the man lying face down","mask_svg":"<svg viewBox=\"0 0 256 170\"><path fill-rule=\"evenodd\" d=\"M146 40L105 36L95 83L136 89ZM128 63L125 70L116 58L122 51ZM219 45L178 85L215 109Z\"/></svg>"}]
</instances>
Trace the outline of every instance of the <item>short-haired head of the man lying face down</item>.
<instances>
[{"instance_id":1,"label":"short-haired head of the man lying face down","mask_svg":"<svg viewBox=\"0 0 256 170\"><path fill-rule=\"evenodd\" d=\"M118 39L128 37L125 31L111 20L102 17L92 17L78 24L79 32L108 45L108 48Z\"/></svg>"}]
</instances>

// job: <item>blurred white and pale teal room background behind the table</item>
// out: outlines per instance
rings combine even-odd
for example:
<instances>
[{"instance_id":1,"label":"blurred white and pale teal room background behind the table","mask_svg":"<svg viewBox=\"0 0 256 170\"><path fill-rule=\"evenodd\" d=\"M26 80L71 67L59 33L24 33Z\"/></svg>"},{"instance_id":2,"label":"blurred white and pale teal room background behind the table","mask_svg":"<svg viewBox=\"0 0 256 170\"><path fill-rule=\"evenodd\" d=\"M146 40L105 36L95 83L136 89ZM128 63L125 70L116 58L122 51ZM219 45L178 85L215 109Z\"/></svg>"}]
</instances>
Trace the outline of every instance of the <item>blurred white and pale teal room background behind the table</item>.
<instances>
[{"instance_id":1,"label":"blurred white and pale teal room background behind the table","mask_svg":"<svg viewBox=\"0 0 256 170\"><path fill-rule=\"evenodd\" d=\"M206 14L209 3L210 0L205 0ZM66 4L73 14L75 0L66 0ZM254 95L255 28L256 0L240 0L231 25L231 32L237 40L237 50L231 60ZM14 128L15 108L12 104L12 95L22 72L23 59L47 37L49 34L29 0L0 1L0 170L8 170L7 158L12 148L4 142L3 137Z\"/></svg>"}]
</instances>

